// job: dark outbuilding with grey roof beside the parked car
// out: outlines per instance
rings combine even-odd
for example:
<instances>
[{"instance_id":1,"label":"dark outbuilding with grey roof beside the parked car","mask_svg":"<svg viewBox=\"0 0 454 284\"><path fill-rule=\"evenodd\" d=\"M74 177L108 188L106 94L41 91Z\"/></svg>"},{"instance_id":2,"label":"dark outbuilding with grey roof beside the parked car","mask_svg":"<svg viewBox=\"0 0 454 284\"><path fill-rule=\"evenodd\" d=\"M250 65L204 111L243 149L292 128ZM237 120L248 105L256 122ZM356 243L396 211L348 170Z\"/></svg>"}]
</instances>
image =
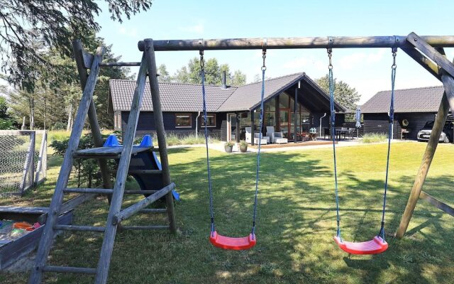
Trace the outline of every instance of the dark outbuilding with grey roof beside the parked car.
<instances>
[{"instance_id":1,"label":"dark outbuilding with grey roof beside the parked car","mask_svg":"<svg viewBox=\"0 0 454 284\"><path fill-rule=\"evenodd\" d=\"M424 124L435 119L444 90L443 86L395 90L394 138L416 140ZM382 91L362 105L364 133L388 133L390 99L391 91Z\"/></svg>"}]
</instances>

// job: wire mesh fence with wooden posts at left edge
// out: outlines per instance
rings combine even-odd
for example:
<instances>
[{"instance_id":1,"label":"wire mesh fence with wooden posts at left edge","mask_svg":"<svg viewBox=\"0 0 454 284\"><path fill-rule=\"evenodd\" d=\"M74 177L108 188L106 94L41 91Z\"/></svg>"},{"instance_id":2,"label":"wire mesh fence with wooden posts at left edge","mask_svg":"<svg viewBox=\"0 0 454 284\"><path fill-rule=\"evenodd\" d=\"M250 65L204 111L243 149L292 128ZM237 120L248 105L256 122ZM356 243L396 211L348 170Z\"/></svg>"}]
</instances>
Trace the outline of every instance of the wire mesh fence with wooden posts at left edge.
<instances>
[{"instance_id":1,"label":"wire mesh fence with wooden posts at left edge","mask_svg":"<svg viewBox=\"0 0 454 284\"><path fill-rule=\"evenodd\" d=\"M0 194L23 195L45 178L45 131L0 131Z\"/></svg>"}]
</instances>

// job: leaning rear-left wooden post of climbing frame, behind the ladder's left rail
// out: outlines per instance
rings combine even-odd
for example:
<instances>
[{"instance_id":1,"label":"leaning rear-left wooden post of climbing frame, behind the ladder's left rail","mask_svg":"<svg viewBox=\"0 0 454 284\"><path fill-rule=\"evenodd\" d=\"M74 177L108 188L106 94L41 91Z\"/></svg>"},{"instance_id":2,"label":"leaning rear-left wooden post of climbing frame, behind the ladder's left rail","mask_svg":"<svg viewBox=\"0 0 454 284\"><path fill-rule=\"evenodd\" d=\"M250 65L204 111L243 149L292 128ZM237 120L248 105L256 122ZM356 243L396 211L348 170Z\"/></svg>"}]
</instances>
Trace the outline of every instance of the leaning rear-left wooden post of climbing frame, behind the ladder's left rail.
<instances>
[{"instance_id":1,"label":"leaning rear-left wooden post of climbing frame, behind the ladder's left rail","mask_svg":"<svg viewBox=\"0 0 454 284\"><path fill-rule=\"evenodd\" d=\"M84 48L80 40L74 40L72 42L72 50L74 53L74 60L76 61L77 71L79 72L80 85L82 89L85 88L87 84L87 69L84 67ZM99 129L98 118L96 116L96 109L94 107L94 102L90 102L88 109L88 119L90 124L90 129L92 130L92 136L94 141L94 146L102 147L104 141L101 136L101 130ZM99 163L99 168L101 169L101 178L104 188L112 188L111 176L109 174L109 167L107 166L107 161L104 159L97 159ZM109 202L110 202L109 195Z\"/></svg>"}]
</instances>

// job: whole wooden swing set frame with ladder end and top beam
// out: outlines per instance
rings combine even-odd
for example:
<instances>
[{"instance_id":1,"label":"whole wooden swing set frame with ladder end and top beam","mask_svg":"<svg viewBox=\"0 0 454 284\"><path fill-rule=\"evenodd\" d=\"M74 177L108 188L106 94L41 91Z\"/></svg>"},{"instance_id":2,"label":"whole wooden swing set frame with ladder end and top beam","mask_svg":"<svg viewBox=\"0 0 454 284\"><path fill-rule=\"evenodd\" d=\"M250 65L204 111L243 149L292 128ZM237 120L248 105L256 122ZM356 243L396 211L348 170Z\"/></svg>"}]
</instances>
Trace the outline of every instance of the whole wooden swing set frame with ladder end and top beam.
<instances>
[{"instance_id":1,"label":"whole wooden swing set frame with ladder end and top beam","mask_svg":"<svg viewBox=\"0 0 454 284\"><path fill-rule=\"evenodd\" d=\"M168 214L168 226L134 226L130 229L170 229L172 232L177 231L175 224L175 213L173 209L172 190L175 184L171 182L168 167L167 149L165 148L165 131L162 121L162 109L160 103L159 85L157 82L157 68L155 62L155 51L172 51L172 50L264 50L264 49L304 49L304 48L323 48L327 50L335 48L399 48L407 55L413 58L424 69L430 72L443 83L445 92L441 100L440 108L431 132L431 138L428 141L426 151L423 155L421 166L416 175L416 179L411 189L409 201L406 205L402 217L397 237L402 238L409 225L411 215L416 207L419 197L427 200L434 206L454 216L453 207L448 206L431 197L426 192L421 192L423 183L426 180L428 169L430 168L433 155L436 152L438 138L443 130L443 125L448 116L449 109L454 109L454 65L447 58L443 48L454 47L454 36L418 36L410 33L407 36L371 36L371 37L318 37L318 38L237 38L237 39L213 39L213 40L152 40L145 39L138 42L138 49L143 52L140 62L102 62L104 48L96 50L96 54L90 54L83 50L79 41L74 41L74 58L77 62L79 76L83 89L83 96L77 110L77 116L74 127L70 136L70 142L65 153L60 175L55 185L55 192L49 207L48 220L46 222L44 233L40 239L38 253L35 260L29 283L41 283L43 273L85 273L94 274L95 283L106 283L109 273L112 251L114 249L114 239L116 230L121 221L131 217L138 212L151 212L144 209L160 197L166 198ZM131 111L128 119L128 126L123 138L123 146L119 148L103 147L103 139L96 118L96 110L93 102L93 92L96 85L96 79L100 67L113 66L140 66L138 72L137 84L131 104ZM90 70L89 74L87 70ZM155 119L157 141L159 149L138 148L133 146L135 131L137 129L140 106L143 101L145 84L149 79L151 96L153 101L153 114ZM82 133L84 121L88 115L90 129L94 137L94 144L98 148L83 150L84 158L96 158L98 160L101 175L103 178L103 189L94 188L67 188L70 178L70 171L74 162L74 157L81 156L81 151L77 150L79 138ZM87 153L89 152L89 155ZM159 151L162 171L157 173L162 175L162 183L165 185L161 190L149 190L149 192L125 190L126 177L128 175L131 155L138 151ZM107 158L116 158L118 160L118 170L116 171L115 184L111 184L111 172L106 163ZM68 192L80 193L71 202L63 202L63 195ZM131 207L121 209L124 194L148 194L140 202L133 204ZM151 194L151 195L150 195ZM84 201L91 200L98 195L107 195L109 198L109 214L105 226L70 226L58 225L57 217L63 210L73 209ZM70 204L68 204L70 203ZM104 233L104 241L101 247L97 268L78 268L69 266L49 266L47 265L48 255L57 231L97 231Z\"/></svg>"}]
</instances>

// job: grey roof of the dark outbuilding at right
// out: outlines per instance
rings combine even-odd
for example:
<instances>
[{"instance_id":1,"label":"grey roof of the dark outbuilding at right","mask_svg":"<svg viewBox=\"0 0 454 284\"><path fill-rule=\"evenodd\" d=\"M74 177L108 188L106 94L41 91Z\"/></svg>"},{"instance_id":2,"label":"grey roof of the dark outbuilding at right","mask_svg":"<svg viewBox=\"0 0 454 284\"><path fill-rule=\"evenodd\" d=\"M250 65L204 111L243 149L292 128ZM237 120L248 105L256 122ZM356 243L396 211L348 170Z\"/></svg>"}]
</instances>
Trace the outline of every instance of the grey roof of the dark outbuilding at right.
<instances>
[{"instance_id":1,"label":"grey roof of the dark outbuilding at right","mask_svg":"<svg viewBox=\"0 0 454 284\"><path fill-rule=\"evenodd\" d=\"M444 90L443 86L397 89L394 91L394 112L437 112ZM391 91L377 92L361 106L361 112L387 113L390 100Z\"/></svg>"}]
</instances>

